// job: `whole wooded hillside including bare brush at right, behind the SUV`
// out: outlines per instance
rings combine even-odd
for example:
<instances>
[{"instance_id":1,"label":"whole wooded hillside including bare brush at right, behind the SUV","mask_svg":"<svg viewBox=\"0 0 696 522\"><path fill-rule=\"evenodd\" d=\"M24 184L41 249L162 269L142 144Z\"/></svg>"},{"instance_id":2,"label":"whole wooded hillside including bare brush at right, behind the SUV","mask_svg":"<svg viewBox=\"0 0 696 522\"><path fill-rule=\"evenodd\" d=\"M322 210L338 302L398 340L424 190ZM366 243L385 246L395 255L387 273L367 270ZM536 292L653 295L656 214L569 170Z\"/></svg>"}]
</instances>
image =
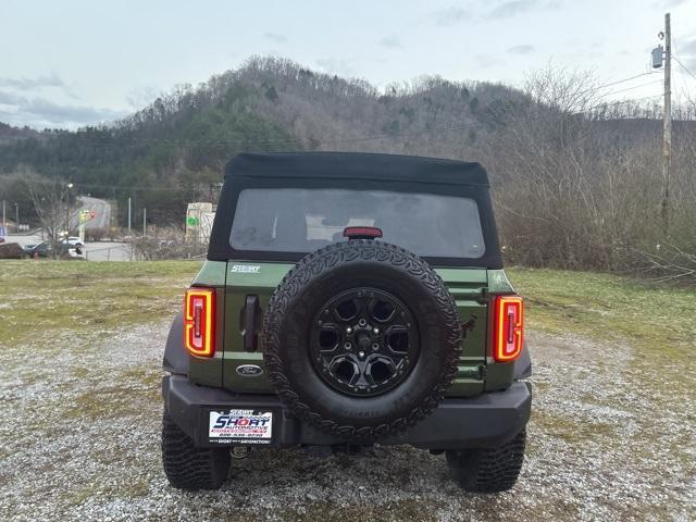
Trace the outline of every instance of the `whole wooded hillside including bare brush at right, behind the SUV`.
<instances>
[{"instance_id":1,"label":"whole wooded hillside including bare brush at right, behind the SUV","mask_svg":"<svg viewBox=\"0 0 696 522\"><path fill-rule=\"evenodd\" d=\"M490 173L509 260L613 270L658 244L696 250L693 122L675 125L666 200L659 110L599 95L591 77L562 71L537 72L521 90L436 77L380 90L257 58L108 125L0 127L0 171L15 173L5 190L28 169L92 196L132 197L136 213L147 208L164 224L181 222L186 202L209 199L241 151L464 159Z\"/></svg>"}]
</instances>

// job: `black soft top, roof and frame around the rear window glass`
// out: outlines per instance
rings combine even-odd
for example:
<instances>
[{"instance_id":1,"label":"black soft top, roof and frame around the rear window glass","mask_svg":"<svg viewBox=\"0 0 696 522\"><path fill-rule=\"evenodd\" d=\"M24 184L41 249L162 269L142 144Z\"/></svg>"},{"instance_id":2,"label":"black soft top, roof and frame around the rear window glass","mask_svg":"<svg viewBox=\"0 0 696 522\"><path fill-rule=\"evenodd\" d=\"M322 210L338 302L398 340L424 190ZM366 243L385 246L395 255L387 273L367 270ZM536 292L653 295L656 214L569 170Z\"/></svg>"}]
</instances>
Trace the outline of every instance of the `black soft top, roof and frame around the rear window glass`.
<instances>
[{"instance_id":1,"label":"black soft top, roof and frame around the rear window glass","mask_svg":"<svg viewBox=\"0 0 696 522\"><path fill-rule=\"evenodd\" d=\"M478 207L485 253L475 259L426 257L425 260L435 266L502 268L488 175L478 163L363 152L239 154L225 167L208 259L297 262L306 256L307 252L240 251L232 247L229 237L237 200L248 188L397 190L470 198Z\"/></svg>"}]
</instances>

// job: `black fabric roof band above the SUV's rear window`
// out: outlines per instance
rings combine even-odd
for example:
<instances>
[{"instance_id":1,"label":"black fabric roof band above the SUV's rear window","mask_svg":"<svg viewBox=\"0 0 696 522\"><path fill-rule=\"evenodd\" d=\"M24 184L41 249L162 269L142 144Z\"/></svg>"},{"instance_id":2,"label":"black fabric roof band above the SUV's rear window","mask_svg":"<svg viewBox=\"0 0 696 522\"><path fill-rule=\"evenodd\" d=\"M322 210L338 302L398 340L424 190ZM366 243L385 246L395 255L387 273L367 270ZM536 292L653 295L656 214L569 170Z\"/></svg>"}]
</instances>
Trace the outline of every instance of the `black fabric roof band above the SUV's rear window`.
<instances>
[{"instance_id":1,"label":"black fabric roof band above the SUV's rear window","mask_svg":"<svg viewBox=\"0 0 696 522\"><path fill-rule=\"evenodd\" d=\"M478 163L364 152L245 153L229 160L225 177L321 177L488 187L488 175Z\"/></svg>"}]
</instances>

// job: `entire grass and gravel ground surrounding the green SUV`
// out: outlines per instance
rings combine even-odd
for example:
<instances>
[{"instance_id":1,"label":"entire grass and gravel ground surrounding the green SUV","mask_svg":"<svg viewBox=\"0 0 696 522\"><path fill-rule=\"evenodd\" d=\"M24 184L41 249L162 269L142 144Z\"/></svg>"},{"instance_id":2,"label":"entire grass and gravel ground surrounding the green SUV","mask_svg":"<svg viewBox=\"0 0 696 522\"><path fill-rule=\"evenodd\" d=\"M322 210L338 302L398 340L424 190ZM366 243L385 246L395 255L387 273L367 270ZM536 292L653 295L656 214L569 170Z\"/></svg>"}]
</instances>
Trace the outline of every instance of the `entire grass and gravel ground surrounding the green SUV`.
<instances>
[{"instance_id":1,"label":"entire grass and gravel ground surrounding the green SUV","mask_svg":"<svg viewBox=\"0 0 696 522\"><path fill-rule=\"evenodd\" d=\"M463 495L442 458L408 447L257 451L221 492L170 489L161 353L199 266L0 261L0 520L696 518L696 291L550 270L507 271L534 362L511 493Z\"/></svg>"}]
</instances>

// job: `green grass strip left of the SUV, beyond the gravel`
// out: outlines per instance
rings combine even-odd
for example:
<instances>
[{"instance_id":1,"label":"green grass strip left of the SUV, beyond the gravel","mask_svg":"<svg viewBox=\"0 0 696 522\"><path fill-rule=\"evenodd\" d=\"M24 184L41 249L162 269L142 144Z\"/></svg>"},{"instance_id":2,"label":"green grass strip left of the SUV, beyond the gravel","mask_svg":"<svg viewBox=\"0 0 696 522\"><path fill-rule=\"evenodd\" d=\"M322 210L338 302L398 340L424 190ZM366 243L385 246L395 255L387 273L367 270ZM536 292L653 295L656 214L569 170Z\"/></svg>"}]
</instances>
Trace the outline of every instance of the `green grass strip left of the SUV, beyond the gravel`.
<instances>
[{"instance_id":1,"label":"green grass strip left of the SUV, beyond the gravel","mask_svg":"<svg viewBox=\"0 0 696 522\"><path fill-rule=\"evenodd\" d=\"M109 334L173 315L201 262L0 262L0 339Z\"/></svg>"}]
</instances>

